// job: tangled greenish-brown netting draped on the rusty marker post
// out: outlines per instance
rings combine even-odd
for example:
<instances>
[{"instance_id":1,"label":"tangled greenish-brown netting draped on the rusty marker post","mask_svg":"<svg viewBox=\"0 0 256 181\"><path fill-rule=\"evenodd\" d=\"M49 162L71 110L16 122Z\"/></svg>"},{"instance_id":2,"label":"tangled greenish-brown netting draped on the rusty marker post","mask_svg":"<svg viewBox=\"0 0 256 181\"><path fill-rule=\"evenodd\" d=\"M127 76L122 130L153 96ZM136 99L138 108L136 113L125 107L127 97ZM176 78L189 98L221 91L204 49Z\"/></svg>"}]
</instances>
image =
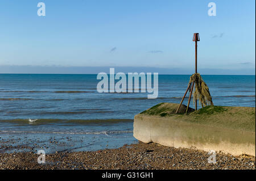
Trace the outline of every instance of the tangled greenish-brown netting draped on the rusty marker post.
<instances>
[{"instance_id":1,"label":"tangled greenish-brown netting draped on the rusty marker post","mask_svg":"<svg viewBox=\"0 0 256 181\"><path fill-rule=\"evenodd\" d=\"M204 82L203 78L199 73L195 73L191 75L189 83L195 81L195 91L193 93L193 102L198 99L199 103L203 104L203 106L212 105L212 96L210 96L209 87Z\"/></svg>"}]
</instances>

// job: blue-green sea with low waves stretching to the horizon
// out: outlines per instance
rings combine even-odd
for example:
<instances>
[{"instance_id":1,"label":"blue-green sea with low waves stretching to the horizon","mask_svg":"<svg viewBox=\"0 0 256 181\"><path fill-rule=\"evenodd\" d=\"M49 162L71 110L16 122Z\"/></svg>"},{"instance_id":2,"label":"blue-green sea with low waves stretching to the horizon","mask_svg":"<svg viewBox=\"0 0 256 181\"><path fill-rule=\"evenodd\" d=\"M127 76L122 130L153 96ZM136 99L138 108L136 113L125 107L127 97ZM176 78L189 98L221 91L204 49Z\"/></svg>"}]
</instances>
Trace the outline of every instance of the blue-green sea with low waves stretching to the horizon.
<instances>
[{"instance_id":1,"label":"blue-green sea with low waves stretching to the horizon","mask_svg":"<svg viewBox=\"0 0 256 181\"><path fill-rule=\"evenodd\" d=\"M71 151L131 144L134 115L160 102L179 103L189 76L159 75L158 99L147 99L148 93L98 93L96 74L0 74L0 137L43 144L68 136L73 144L61 149ZM255 75L202 77L214 105L255 107Z\"/></svg>"}]
</instances>

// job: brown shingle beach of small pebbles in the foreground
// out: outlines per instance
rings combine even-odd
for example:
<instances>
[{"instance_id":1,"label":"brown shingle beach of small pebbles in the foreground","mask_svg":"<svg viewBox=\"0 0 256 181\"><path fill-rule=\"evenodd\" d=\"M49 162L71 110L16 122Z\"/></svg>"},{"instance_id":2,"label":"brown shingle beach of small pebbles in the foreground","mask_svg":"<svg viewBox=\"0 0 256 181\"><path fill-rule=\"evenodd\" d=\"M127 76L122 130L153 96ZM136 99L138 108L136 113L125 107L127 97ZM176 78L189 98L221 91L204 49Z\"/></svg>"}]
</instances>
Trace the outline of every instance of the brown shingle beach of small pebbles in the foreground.
<instances>
[{"instance_id":1,"label":"brown shingle beach of small pebbles in the foreground","mask_svg":"<svg viewBox=\"0 0 256 181\"><path fill-rule=\"evenodd\" d=\"M255 157L216 153L217 163L208 163L206 151L181 149L155 143L124 145L118 149L97 151L62 151L46 154L46 163L37 162L34 152L0 153L0 169L57 169L57 170L109 170L109 169L252 169Z\"/></svg>"}]
</instances>

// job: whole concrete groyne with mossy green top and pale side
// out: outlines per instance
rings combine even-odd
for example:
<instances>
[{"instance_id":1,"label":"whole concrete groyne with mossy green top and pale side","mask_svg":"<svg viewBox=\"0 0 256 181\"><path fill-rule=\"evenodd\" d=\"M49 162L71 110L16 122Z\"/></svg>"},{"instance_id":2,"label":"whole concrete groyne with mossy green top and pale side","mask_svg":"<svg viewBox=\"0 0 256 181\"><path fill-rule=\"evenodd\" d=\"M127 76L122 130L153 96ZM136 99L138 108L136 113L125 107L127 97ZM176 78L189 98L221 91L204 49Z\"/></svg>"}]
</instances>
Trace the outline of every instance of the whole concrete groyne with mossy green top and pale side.
<instances>
[{"instance_id":1,"label":"whole concrete groyne with mossy green top and pale side","mask_svg":"<svg viewBox=\"0 0 256 181\"><path fill-rule=\"evenodd\" d=\"M176 115L176 107L161 103L135 115L134 137L175 148L255 156L255 108L214 106Z\"/></svg>"}]
</instances>

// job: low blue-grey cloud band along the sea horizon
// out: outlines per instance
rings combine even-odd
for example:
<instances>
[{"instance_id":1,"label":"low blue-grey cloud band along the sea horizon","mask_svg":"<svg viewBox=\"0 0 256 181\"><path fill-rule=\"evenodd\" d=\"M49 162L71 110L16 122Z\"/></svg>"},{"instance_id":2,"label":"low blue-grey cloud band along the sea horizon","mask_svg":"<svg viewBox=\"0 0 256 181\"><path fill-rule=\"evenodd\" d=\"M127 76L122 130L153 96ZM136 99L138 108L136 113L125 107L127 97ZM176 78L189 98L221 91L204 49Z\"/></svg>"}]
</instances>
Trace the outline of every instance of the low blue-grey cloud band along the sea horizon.
<instances>
[{"instance_id":1,"label":"low blue-grey cloud band along the sea horizon","mask_svg":"<svg viewBox=\"0 0 256 181\"><path fill-rule=\"evenodd\" d=\"M121 72L157 72L162 75L191 75L193 68L154 68L146 66L35 66L35 65L0 65L0 73L5 74L98 74L109 72L109 68ZM255 64L241 69L205 69L200 68L201 75L255 75Z\"/></svg>"}]
</instances>

